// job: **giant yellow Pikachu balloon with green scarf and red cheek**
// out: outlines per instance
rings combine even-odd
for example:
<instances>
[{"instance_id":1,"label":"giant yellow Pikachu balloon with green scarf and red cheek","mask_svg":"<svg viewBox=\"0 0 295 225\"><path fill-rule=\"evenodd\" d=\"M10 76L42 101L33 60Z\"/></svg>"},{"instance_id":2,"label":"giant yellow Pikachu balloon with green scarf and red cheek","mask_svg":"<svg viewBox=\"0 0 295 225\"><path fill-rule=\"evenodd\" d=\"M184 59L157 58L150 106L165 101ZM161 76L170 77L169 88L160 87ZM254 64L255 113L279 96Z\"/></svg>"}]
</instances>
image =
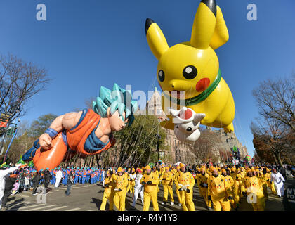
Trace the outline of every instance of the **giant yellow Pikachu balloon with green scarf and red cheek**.
<instances>
[{"instance_id":1,"label":"giant yellow Pikachu balloon with green scarf and red cheek","mask_svg":"<svg viewBox=\"0 0 295 225\"><path fill-rule=\"evenodd\" d=\"M164 112L171 107L168 103L176 101L174 108L185 106L204 113L201 124L233 131L235 103L221 77L214 51L228 41L228 29L216 1L202 0L199 4L190 41L169 48L159 26L150 18L146 20L145 32L152 53L159 60L157 78L164 93ZM173 98L173 91L185 91L185 101L180 101L179 95ZM162 126L174 129L172 117L169 118Z\"/></svg>"}]
</instances>

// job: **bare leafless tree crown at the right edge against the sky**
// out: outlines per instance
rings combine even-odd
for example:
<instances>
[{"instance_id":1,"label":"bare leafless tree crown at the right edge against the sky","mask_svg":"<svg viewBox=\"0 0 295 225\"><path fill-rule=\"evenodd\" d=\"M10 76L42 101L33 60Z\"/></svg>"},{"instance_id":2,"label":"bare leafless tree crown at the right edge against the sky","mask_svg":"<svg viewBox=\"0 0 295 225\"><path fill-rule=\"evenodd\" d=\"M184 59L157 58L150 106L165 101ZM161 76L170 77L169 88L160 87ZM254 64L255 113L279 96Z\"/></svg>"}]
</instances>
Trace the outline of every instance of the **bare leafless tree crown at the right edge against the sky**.
<instances>
[{"instance_id":1,"label":"bare leafless tree crown at the right edge against the sky","mask_svg":"<svg viewBox=\"0 0 295 225\"><path fill-rule=\"evenodd\" d=\"M262 117L279 120L295 132L295 73L261 82L252 94Z\"/></svg>"}]
</instances>

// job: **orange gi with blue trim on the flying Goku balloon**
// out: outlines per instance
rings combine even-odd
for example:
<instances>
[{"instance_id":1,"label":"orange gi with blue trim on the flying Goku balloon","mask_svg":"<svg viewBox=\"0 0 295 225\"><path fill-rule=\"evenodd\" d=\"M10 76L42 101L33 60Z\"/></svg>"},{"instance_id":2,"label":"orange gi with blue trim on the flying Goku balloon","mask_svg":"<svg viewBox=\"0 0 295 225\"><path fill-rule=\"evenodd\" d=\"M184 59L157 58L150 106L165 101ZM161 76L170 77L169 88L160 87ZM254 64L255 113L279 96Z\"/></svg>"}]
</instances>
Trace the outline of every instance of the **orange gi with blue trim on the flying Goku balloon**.
<instances>
[{"instance_id":1,"label":"orange gi with blue trim on the flying Goku balloon","mask_svg":"<svg viewBox=\"0 0 295 225\"><path fill-rule=\"evenodd\" d=\"M115 140L110 134L110 141L103 143L95 136L96 128L100 122L100 115L93 110L83 110L79 122L70 130L64 129L51 143L50 150L43 150L39 145L39 139L34 147L22 156L22 160L32 160L34 167L40 169L54 169L60 162L70 160L74 155L86 158L88 155L96 155L103 150L114 146Z\"/></svg>"}]
</instances>

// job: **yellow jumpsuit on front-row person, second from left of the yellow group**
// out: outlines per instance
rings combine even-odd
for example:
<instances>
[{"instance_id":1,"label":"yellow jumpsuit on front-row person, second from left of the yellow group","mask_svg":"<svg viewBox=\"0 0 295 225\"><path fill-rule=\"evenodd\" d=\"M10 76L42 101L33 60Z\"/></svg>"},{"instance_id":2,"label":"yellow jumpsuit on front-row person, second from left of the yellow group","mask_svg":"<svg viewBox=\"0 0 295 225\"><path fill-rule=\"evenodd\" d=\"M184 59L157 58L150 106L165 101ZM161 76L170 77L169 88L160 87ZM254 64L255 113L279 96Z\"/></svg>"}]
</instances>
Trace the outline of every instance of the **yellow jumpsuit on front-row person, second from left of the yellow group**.
<instances>
[{"instance_id":1,"label":"yellow jumpsuit on front-row person, second from left of the yellow group","mask_svg":"<svg viewBox=\"0 0 295 225\"><path fill-rule=\"evenodd\" d=\"M128 179L125 174L122 176L112 174L114 181L114 188L121 189L122 191L114 191L114 205L119 211L125 211L125 199L126 199L126 187L128 185Z\"/></svg>"}]
</instances>

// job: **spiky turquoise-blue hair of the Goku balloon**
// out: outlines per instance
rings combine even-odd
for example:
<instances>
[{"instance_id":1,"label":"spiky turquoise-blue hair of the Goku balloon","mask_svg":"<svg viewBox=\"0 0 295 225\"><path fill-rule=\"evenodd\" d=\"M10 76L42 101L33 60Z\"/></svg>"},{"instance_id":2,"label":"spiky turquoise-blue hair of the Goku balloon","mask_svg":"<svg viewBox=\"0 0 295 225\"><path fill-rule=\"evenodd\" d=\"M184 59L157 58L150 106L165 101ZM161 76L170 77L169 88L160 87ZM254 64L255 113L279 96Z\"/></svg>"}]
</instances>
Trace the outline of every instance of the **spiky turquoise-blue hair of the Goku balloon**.
<instances>
[{"instance_id":1,"label":"spiky turquoise-blue hair of the Goku balloon","mask_svg":"<svg viewBox=\"0 0 295 225\"><path fill-rule=\"evenodd\" d=\"M125 112L125 117L129 119L129 126L131 126L134 120L133 113L137 110L137 101L131 101L131 98L131 91L120 88L118 84L114 84L112 91L101 86L99 96L96 101L93 101L92 108L101 117L107 117L107 108L109 107L111 115L116 110L118 110L119 115Z\"/></svg>"}]
</instances>

